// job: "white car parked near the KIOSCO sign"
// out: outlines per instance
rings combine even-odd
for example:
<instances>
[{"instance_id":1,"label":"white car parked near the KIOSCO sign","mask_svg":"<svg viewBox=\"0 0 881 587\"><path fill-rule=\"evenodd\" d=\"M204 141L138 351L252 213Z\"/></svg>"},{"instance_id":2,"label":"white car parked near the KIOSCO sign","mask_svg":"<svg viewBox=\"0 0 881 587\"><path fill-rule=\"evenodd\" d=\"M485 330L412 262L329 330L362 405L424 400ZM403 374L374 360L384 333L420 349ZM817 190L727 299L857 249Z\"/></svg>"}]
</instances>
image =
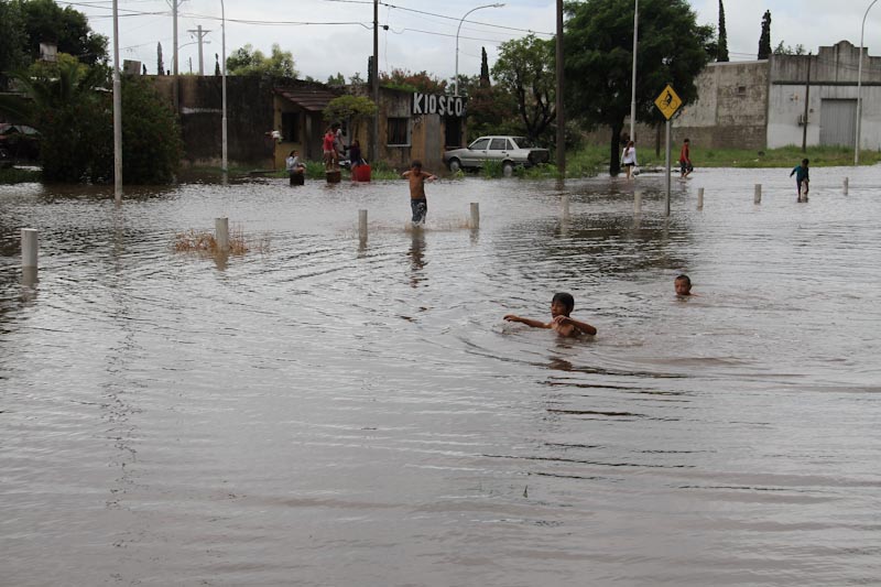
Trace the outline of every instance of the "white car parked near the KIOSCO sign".
<instances>
[{"instance_id":1,"label":"white car parked near the KIOSCO sign","mask_svg":"<svg viewBox=\"0 0 881 587\"><path fill-rule=\"evenodd\" d=\"M476 170L485 161L500 161L505 175L516 165L532 166L546 163L551 157L547 149L534 146L525 137L480 137L465 149L452 149L444 153L444 163L452 172Z\"/></svg>"}]
</instances>

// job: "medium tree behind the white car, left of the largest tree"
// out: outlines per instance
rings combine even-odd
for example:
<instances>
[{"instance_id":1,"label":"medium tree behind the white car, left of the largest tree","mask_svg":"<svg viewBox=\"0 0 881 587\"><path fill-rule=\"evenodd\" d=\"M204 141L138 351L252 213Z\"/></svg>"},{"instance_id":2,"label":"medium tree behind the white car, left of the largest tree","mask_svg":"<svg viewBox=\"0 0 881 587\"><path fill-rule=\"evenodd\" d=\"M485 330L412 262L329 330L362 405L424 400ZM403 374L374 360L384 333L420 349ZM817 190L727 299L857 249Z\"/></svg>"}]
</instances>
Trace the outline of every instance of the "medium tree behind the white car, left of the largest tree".
<instances>
[{"instance_id":1,"label":"medium tree behind the white car, left of the largest tree","mask_svg":"<svg viewBox=\"0 0 881 587\"><path fill-rule=\"evenodd\" d=\"M554 61L554 41L530 34L502 43L492 66L497 85L514 97L520 122L534 141L548 133L556 119Z\"/></svg>"}]
</instances>

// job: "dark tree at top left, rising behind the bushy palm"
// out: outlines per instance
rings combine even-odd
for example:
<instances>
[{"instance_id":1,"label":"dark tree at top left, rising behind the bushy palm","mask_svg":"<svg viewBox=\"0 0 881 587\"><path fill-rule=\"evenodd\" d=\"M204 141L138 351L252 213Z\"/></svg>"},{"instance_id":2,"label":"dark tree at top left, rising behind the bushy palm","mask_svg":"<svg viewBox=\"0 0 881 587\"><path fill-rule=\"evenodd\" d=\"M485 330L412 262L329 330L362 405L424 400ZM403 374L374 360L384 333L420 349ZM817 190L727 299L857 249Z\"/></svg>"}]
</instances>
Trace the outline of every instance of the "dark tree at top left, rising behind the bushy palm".
<instances>
[{"instance_id":1,"label":"dark tree at top left, rising behind the bushy palm","mask_svg":"<svg viewBox=\"0 0 881 587\"><path fill-rule=\"evenodd\" d=\"M52 41L59 53L68 53L80 62L94 65L107 61L107 37L93 32L88 19L70 8L61 8L53 0L17 0L24 18L26 52L40 57L40 43Z\"/></svg>"}]
</instances>

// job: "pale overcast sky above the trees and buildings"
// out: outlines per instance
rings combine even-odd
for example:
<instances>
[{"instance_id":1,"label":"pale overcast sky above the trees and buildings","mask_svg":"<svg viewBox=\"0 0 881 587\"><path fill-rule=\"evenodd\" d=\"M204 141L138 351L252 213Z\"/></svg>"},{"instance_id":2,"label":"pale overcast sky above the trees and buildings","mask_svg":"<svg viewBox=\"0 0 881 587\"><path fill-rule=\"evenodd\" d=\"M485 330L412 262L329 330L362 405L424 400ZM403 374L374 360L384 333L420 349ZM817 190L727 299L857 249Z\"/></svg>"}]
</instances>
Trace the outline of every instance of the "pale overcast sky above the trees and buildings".
<instances>
[{"instance_id":1,"label":"pale overcast sky above the trees and buildings","mask_svg":"<svg viewBox=\"0 0 881 587\"><path fill-rule=\"evenodd\" d=\"M120 58L137 59L156 72L156 43L162 43L166 69L172 68L174 0L119 0ZM471 9L491 0L381 0L379 4L379 64L392 68L427 70L452 78L456 70L456 30ZM58 2L67 6L68 2ZM701 24L718 24L718 0L690 0ZM871 0L725 0L728 50L732 61L755 58L762 14L771 11L771 43L802 44L816 53L820 45L848 40L860 42L862 17ZM91 28L111 40L110 0L69 2L89 18ZM529 34L550 37L556 28L554 0L507 0L501 8L474 11L459 33L459 73L480 70L480 47L490 66L500 43ZM342 73L367 78L367 56L373 51L372 0L226 0L227 54L250 43L269 54L273 43L290 51L301 77L326 80ZM199 25L210 31L203 51L205 72L214 72L221 48L220 0L184 0L178 8L182 73L198 72L196 35ZM388 30L384 30L388 26ZM872 55L881 55L881 6L869 12L866 41ZM878 48L875 48L878 47ZM111 53L112 54L112 53Z\"/></svg>"}]
</instances>

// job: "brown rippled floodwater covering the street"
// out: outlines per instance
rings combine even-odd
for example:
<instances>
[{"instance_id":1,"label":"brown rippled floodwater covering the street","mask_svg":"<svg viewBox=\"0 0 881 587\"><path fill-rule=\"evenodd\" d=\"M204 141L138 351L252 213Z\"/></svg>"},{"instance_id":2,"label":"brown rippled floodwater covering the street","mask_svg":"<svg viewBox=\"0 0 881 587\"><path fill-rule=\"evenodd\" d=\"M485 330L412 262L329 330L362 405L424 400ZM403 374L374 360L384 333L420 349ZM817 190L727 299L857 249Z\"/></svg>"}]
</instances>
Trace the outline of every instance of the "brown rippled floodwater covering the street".
<instances>
[{"instance_id":1,"label":"brown rippled floodwater covering the street","mask_svg":"<svg viewBox=\"0 0 881 587\"><path fill-rule=\"evenodd\" d=\"M881 169L812 175L0 187L0 585L881 584Z\"/></svg>"}]
</instances>

